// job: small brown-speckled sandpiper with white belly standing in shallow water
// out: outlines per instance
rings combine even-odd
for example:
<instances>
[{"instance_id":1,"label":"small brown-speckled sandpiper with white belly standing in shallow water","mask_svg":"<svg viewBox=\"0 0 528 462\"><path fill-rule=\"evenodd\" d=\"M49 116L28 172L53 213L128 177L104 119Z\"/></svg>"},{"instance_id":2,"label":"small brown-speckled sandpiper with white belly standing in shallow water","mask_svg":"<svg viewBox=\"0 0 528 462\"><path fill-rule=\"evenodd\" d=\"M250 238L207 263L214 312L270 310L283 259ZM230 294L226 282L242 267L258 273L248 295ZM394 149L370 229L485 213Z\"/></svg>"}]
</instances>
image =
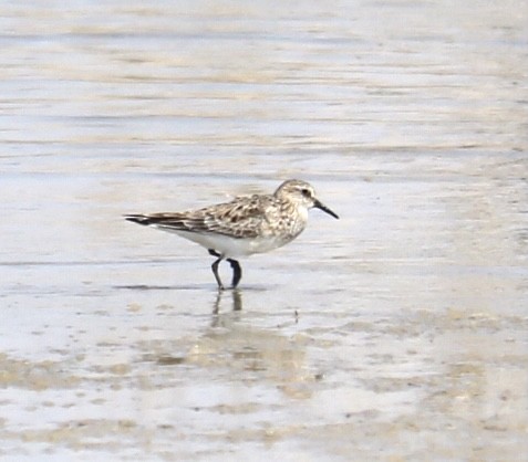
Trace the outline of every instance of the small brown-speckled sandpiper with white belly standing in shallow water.
<instances>
[{"instance_id":1,"label":"small brown-speckled sandpiper with white belly standing in shallow water","mask_svg":"<svg viewBox=\"0 0 528 462\"><path fill-rule=\"evenodd\" d=\"M211 265L218 288L224 290L218 265L232 269L231 287L242 276L238 258L269 252L296 239L306 228L308 209L318 208L339 219L320 202L312 186L287 180L272 195L240 196L230 202L172 213L126 214L135 223L174 232L206 248L216 256Z\"/></svg>"}]
</instances>

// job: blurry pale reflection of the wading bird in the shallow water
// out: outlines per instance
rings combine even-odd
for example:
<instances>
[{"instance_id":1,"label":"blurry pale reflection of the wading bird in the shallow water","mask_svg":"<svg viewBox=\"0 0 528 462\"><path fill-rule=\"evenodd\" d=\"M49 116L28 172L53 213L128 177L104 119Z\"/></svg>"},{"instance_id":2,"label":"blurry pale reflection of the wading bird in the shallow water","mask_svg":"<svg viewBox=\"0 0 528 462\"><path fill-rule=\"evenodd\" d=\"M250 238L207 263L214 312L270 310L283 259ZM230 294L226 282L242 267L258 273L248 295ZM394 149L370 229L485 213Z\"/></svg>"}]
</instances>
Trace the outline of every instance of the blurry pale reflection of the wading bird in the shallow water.
<instances>
[{"instance_id":1,"label":"blurry pale reflection of the wading bird in the shallow water","mask_svg":"<svg viewBox=\"0 0 528 462\"><path fill-rule=\"evenodd\" d=\"M289 316L283 323L273 323L278 328L269 327L269 318L252 314L252 306L246 306L249 312L241 311L242 292L237 290L220 291L211 304L210 324L194 339L187 364L208 367L208 374L216 371L227 384L241 376L263 380L296 399L312 396L322 372L307 364L307 338L289 334Z\"/></svg>"}]
</instances>

